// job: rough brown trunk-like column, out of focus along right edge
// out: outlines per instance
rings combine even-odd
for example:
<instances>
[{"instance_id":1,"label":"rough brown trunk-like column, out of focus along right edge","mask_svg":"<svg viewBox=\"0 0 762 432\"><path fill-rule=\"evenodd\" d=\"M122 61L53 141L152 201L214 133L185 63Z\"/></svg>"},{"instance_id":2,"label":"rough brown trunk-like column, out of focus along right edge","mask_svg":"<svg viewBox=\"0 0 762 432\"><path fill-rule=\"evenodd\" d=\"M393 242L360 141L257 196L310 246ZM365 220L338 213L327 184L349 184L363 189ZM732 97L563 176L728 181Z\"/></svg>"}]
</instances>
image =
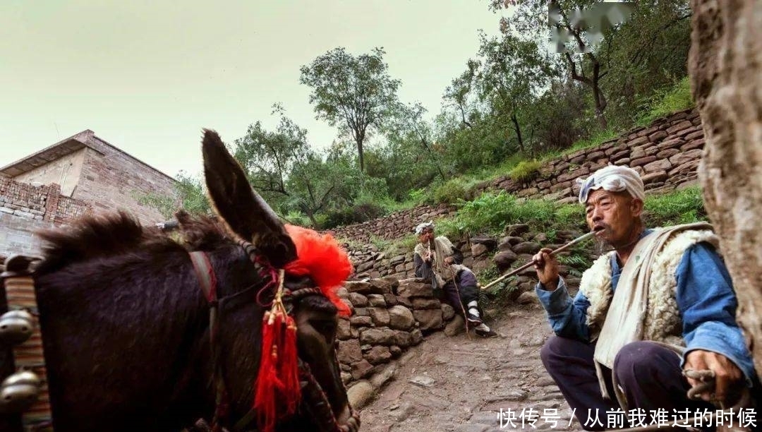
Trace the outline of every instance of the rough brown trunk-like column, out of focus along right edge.
<instances>
[{"instance_id":1,"label":"rough brown trunk-like column, out of focus along right edge","mask_svg":"<svg viewBox=\"0 0 762 432\"><path fill-rule=\"evenodd\" d=\"M706 139L704 203L738 293L738 324L762 371L762 6L691 0L688 67Z\"/></svg>"}]
</instances>

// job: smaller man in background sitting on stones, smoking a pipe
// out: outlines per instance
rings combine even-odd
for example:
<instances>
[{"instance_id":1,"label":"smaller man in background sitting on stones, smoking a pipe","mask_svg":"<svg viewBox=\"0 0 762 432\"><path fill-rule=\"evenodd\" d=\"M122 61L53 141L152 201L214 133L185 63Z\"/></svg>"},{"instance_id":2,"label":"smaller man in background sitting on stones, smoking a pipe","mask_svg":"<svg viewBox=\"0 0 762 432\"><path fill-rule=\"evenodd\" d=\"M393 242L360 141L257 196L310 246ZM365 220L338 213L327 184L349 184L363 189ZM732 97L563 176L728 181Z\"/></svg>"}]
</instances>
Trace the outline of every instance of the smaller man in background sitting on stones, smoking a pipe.
<instances>
[{"instance_id":1,"label":"smaller man in background sitting on stones, smoking a pipe","mask_svg":"<svg viewBox=\"0 0 762 432\"><path fill-rule=\"evenodd\" d=\"M482 338L495 338L479 312L479 287L476 277L463 265L463 252L444 235L434 237L434 223L425 222L415 227L418 244L413 251L415 276L431 280L434 290L443 290L450 305L466 318Z\"/></svg>"}]
</instances>

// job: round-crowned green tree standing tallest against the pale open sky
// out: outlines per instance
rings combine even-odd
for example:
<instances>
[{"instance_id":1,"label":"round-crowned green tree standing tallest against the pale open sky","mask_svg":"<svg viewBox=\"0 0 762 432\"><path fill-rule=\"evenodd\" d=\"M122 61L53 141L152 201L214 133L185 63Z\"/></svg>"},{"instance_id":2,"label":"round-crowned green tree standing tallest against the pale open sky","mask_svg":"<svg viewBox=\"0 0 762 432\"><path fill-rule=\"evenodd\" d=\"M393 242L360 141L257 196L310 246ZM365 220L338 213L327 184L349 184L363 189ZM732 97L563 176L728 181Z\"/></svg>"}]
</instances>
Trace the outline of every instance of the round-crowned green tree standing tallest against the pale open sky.
<instances>
[{"instance_id":1,"label":"round-crowned green tree standing tallest against the pale open sky","mask_svg":"<svg viewBox=\"0 0 762 432\"><path fill-rule=\"evenodd\" d=\"M315 104L317 118L354 139L360 171L365 171L363 143L370 128L382 126L397 101L400 82L389 76L383 55L382 48L352 56L338 47L300 69L299 82L312 88L309 102Z\"/></svg>"}]
</instances>

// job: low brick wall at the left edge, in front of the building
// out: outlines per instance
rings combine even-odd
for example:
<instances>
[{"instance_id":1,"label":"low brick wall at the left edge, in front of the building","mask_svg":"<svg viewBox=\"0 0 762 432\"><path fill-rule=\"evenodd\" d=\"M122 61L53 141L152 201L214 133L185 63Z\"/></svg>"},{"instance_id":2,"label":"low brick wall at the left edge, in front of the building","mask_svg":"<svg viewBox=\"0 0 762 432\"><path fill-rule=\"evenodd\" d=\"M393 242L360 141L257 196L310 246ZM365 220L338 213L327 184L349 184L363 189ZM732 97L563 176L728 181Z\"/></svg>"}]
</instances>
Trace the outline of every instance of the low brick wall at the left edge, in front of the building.
<instances>
[{"instance_id":1,"label":"low brick wall at the left edge, in front of the building","mask_svg":"<svg viewBox=\"0 0 762 432\"><path fill-rule=\"evenodd\" d=\"M63 197L58 184L33 186L0 177L0 256L39 253L35 231L64 225L89 210L87 203Z\"/></svg>"}]
</instances>

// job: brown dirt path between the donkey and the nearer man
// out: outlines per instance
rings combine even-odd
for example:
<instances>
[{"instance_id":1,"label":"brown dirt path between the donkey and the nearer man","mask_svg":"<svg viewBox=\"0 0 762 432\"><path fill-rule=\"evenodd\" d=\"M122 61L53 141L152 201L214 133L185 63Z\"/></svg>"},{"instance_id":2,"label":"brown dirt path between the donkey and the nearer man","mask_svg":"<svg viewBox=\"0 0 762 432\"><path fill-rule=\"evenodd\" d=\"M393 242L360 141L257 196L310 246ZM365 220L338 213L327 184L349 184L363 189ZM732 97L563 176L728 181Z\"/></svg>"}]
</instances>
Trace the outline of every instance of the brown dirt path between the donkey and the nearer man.
<instances>
[{"instance_id":1,"label":"brown dirt path between the donkey and the nearer man","mask_svg":"<svg viewBox=\"0 0 762 432\"><path fill-rule=\"evenodd\" d=\"M539 359L552 334L543 309L511 306L488 323L499 338L437 332L408 351L394 379L362 409L361 430L581 430L569 424L571 409Z\"/></svg>"}]
</instances>

